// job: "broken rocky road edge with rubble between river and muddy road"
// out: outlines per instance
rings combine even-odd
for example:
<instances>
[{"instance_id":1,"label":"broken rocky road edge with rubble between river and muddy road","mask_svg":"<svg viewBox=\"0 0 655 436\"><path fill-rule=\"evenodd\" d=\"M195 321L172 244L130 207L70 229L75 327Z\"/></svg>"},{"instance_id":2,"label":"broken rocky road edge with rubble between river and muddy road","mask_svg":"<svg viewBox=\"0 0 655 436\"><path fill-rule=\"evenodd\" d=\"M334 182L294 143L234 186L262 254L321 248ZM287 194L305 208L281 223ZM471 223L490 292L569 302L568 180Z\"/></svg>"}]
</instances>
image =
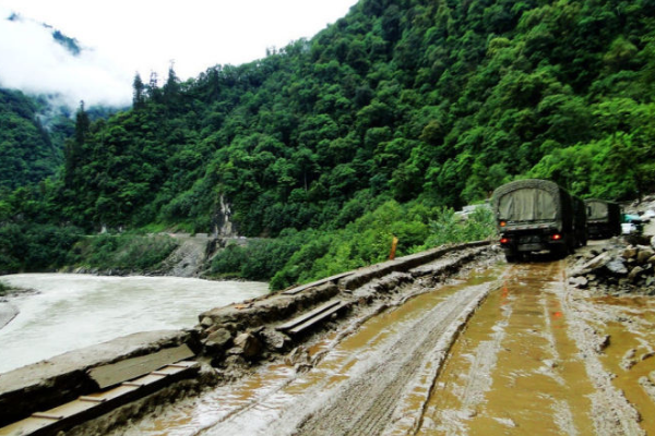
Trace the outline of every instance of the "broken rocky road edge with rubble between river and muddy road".
<instances>
[{"instance_id":1,"label":"broken rocky road edge with rubble between river and muddy road","mask_svg":"<svg viewBox=\"0 0 655 436\"><path fill-rule=\"evenodd\" d=\"M491 254L489 254L491 253ZM281 332L281 323L307 315L317 305L338 299L344 312L374 311L376 305L385 307L390 300L402 299L402 283L424 280L443 280L465 265L479 258L496 258L497 251L489 242L477 242L436 249L425 253L372 265L347 274L334 276L266 298L240 304L217 307L199 316L199 324L189 330L157 332L119 338L97 347L69 352L24 366L0 377L0 425L28 416L37 410L47 410L73 398L91 395L97 389L87 383L87 371L105 363L118 363L166 348L184 343L196 354L202 372L223 380L234 379L255 367L301 347L311 332ZM330 317L314 330L330 329L335 323ZM158 336L164 335L165 341ZM168 337L170 336L170 338ZM130 349L124 341L136 341L138 349ZM131 342L130 342L131 343ZM100 353L97 348L103 350ZM115 355L116 354L116 355ZM302 353L291 352L298 364ZM300 366L299 366L300 368ZM72 383L69 376L76 377ZM196 387L206 380L195 383ZM63 388L66 387L66 389ZM32 397L26 397L29 392ZM170 399L177 393L169 393ZM19 403L19 398L21 401ZM37 401L38 400L38 401ZM11 405L11 407L10 407ZM117 425L143 412L141 407L123 409L102 419L100 424ZM129 413L128 413L129 412ZM80 434L90 434L88 427ZM93 432L92 432L93 433ZM94 433L102 434L105 432Z\"/></svg>"}]
</instances>

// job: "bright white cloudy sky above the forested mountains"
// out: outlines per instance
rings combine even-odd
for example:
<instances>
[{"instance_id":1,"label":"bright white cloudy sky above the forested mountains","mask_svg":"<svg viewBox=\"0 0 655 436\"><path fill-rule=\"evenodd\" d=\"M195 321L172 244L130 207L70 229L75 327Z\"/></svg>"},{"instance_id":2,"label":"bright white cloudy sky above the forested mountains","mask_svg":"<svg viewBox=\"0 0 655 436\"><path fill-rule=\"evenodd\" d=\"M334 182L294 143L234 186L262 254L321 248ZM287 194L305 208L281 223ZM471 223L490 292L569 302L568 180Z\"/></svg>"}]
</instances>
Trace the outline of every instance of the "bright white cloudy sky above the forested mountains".
<instances>
[{"instance_id":1,"label":"bright white cloudy sky above the forested mountains","mask_svg":"<svg viewBox=\"0 0 655 436\"><path fill-rule=\"evenodd\" d=\"M60 93L76 108L131 104L135 73L182 81L311 38L357 0L0 0L0 87ZM8 21L16 13L21 21ZM72 57L46 23L83 47Z\"/></svg>"}]
</instances>

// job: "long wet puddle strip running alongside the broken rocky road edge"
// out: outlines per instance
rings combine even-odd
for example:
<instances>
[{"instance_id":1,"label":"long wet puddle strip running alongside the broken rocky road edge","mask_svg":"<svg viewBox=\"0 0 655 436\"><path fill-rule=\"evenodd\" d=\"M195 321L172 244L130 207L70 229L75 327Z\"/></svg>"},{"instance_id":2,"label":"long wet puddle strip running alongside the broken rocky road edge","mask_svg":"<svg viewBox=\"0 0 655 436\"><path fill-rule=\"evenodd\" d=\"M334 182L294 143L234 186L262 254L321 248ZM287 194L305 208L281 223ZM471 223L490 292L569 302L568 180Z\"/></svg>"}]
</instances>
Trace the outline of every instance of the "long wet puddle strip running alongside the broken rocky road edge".
<instances>
[{"instance_id":1,"label":"long wet puddle strip running alongside the broken rocky road edge","mask_svg":"<svg viewBox=\"0 0 655 436\"><path fill-rule=\"evenodd\" d=\"M344 384L370 371L371 366L384 365L384 350L390 342L413 341L414 338L402 337L408 326L462 289L496 280L501 269L473 274L466 280L419 294L361 325L346 326L341 334L331 334L296 353L303 359L262 367L252 376L218 387L200 398L177 402L156 417L142 420L116 434L291 434L302 416L321 410ZM427 395L432 380L425 383L428 388L422 389Z\"/></svg>"}]
</instances>

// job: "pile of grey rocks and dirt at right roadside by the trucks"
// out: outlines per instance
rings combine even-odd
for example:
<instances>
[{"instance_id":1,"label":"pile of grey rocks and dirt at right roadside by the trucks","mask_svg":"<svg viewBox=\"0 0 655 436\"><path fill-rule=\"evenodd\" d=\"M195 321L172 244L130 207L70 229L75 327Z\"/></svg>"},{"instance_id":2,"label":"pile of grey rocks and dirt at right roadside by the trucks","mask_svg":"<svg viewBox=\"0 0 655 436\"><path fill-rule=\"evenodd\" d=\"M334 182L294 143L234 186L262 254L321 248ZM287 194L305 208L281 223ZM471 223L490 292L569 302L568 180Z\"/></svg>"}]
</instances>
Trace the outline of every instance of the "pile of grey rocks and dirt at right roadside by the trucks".
<instances>
[{"instance_id":1,"label":"pile of grey rocks and dirt at right roadside by the trucks","mask_svg":"<svg viewBox=\"0 0 655 436\"><path fill-rule=\"evenodd\" d=\"M612 238L579 250L570 261L569 282L606 294L655 295L655 246L645 241Z\"/></svg>"}]
</instances>

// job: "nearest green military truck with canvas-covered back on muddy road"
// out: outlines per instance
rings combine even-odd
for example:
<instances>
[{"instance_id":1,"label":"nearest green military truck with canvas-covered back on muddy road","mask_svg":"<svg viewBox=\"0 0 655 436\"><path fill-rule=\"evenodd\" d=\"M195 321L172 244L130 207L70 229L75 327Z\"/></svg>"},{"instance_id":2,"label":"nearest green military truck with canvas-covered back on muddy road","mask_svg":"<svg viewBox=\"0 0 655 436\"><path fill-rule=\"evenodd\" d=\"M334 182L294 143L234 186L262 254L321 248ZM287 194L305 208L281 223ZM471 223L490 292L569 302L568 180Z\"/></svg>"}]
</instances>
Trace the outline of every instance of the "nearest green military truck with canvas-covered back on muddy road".
<instances>
[{"instance_id":1,"label":"nearest green military truck with canvas-covered back on muddy road","mask_svg":"<svg viewBox=\"0 0 655 436\"><path fill-rule=\"evenodd\" d=\"M584 203L548 180L507 183L491 199L500 244L508 262L548 250L558 256L586 245Z\"/></svg>"}]
</instances>

